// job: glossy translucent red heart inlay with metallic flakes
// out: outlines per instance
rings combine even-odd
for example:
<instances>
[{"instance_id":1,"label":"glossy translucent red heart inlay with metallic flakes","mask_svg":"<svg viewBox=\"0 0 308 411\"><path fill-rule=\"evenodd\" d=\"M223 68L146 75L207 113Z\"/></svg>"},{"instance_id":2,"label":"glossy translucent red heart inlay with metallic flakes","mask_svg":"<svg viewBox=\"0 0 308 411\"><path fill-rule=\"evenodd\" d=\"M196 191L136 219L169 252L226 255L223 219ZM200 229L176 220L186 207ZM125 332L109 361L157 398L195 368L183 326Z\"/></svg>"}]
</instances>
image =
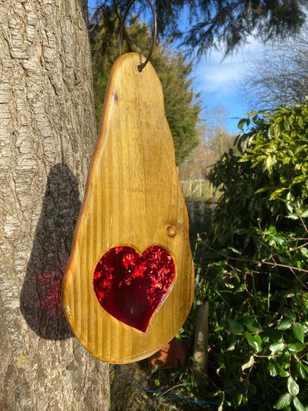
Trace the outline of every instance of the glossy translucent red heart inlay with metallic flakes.
<instances>
[{"instance_id":1,"label":"glossy translucent red heart inlay with metallic flakes","mask_svg":"<svg viewBox=\"0 0 308 411\"><path fill-rule=\"evenodd\" d=\"M151 316L175 277L175 264L164 248L141 255L132 247L108 250L94 270L93 286L101 306L117 320L146 332Z\"/></svg>"}]
</instances>

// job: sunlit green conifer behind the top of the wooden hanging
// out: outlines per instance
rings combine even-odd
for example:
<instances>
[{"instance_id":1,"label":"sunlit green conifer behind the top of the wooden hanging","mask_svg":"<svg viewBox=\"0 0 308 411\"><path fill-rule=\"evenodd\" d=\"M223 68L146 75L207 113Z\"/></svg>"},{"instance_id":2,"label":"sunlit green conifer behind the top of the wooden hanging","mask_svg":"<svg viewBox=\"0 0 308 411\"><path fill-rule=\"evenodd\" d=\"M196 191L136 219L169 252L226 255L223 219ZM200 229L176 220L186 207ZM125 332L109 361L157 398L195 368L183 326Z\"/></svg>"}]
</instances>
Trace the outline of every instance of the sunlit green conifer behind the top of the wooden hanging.
<instances>
[{"instance_id":1,"label":"sunlit green conifer behind the top of the wooden hanging","mask_svg":"<svg viewBox=\"0 0 308 411\"><path fill-rule=\"evenodd\" d=\"M94 26L91 32L95 117L98 125L109 72L119 53L118 34L106 36L107 30L102 22ZM146 55L151 43L148 26L141 23L137 16L133 17L130 27L125 31L125 40L123 52L134 50ZM159 43L153 51L151 64L162 83L165 113L175 143L176 161L180 164L199 143L197 125L201 101L191 86L192 62L187 62L181 51L171 51L167 44Z\"/></svg>"}]
</instances>

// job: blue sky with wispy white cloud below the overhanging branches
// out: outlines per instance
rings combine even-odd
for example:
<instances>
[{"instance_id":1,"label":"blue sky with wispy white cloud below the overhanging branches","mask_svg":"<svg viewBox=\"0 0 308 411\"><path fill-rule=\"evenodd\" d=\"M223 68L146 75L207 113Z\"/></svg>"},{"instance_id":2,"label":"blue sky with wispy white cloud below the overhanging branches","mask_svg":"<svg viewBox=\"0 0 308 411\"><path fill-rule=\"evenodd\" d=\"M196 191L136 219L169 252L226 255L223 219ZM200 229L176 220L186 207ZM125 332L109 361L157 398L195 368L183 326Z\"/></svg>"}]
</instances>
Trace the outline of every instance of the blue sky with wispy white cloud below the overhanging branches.
<instances>
[{"instance_id":1,"label":"blue sky with wispy white cloud below the overhanging branches","mask_svg":"<svg viewBox=\"0 0 308 411\"><path fill-rule=\"evenodd\" d=\"M96 0L88 0L89 8L95 6ZM151 13L142 16L150 25L152 24ZM180 27L185 30L187 12L183 12ZM186 26L187 27L187 26ZM243 49L223 60L223 53L211 51L207 58L202 58L196 63L193 73L193 87L196 92L201 92L203 105L210 109L218 105L228 111L228 122L226 128L229 133L237 133L239 118L245 117L247 107L241 101L237 91L237 84L241 72L245 69L245 61L254 59L261 53L261 45L253 38L249 38Z\"/></svg>"}]
</instances>

